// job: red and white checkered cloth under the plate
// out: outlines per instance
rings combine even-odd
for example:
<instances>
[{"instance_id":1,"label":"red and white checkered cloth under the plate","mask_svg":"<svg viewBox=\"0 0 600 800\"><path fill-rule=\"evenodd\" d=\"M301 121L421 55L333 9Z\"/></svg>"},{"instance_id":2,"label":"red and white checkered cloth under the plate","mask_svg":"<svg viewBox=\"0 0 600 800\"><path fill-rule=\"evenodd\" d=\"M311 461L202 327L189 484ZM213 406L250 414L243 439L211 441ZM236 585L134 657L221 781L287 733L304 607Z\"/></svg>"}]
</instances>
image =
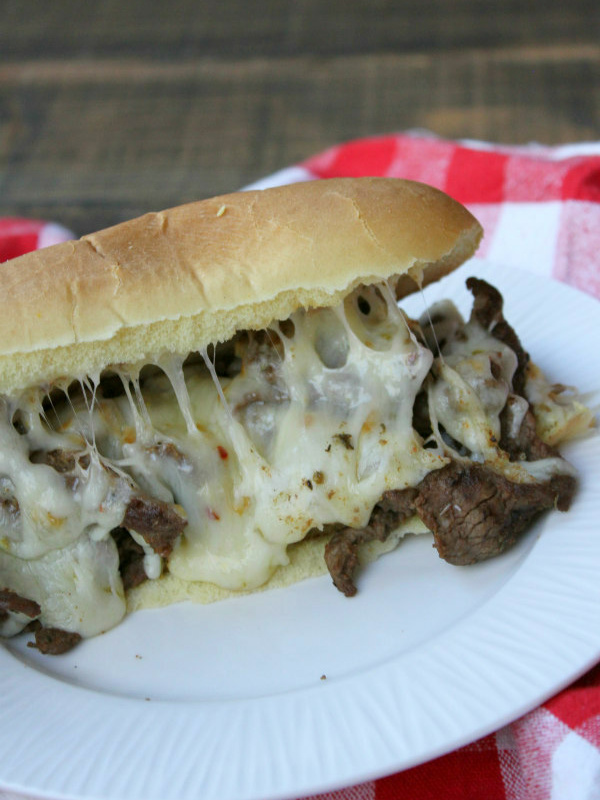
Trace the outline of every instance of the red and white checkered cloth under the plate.
<instances>
[{"instance_id":1,"label":"red and white checkered cloth under the plate","mask_svg":"<svg viewBox=\"0 0 600 800\"><path fill-rule=\"evenodd\" d=\"M349 142L257 187L338 176L412 178L467 205L479 255L553 276L600 298L600 143L496 147L415 133ZM0 261L69 238L58 226L0 220ZM16 795L0 790L0 800ZM396 775L318 800L599 800L600 665L496 733Z\"/></svg>"}]
</instances>

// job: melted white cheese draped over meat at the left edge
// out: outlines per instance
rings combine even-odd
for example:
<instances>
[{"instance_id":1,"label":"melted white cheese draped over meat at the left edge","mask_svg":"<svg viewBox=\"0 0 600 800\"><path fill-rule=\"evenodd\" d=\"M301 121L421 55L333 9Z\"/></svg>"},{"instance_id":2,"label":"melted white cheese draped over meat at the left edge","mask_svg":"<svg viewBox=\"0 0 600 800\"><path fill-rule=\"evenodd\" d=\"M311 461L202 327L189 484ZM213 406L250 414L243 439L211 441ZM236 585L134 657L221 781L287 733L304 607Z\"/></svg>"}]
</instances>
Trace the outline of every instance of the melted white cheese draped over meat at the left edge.
<instances>
[{"instance_id":1,"label":"melted white cheese draped over meat at the left edge","mask_svg":"<svg viewBox=\"0 0 600 800\"><path fill-rule=\"evenodd\" d=\"M92 408L83 404L70 413L61 430L58 417L56 427L48 424L54 411L43 409L41 392L0 402L0 586L37 602L45 626L93 636L125 614L109 533L123 518L132 482L106 469L94 443ZM50 464L36 463L38 454L56 452L72 460L68 481Z\"/></svg>"}]
</instances>

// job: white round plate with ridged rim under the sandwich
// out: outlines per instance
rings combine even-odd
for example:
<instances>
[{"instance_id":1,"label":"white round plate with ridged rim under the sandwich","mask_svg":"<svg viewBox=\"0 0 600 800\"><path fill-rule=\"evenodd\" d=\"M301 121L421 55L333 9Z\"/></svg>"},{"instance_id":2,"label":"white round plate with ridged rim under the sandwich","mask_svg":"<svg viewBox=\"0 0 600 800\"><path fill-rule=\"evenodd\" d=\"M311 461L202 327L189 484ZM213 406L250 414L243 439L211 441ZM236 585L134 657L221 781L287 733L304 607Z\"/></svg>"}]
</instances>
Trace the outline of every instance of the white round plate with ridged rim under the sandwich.
<instances>
[{"instance_id":1,"label":"white round plate with ridged rim under the sandwich","mask_svg":"<svg viewBox=\"0 0 600 800\"><path fill-rule=\"evenodd\" d=\"M596 391L600 306L471 263L427 290L470 308L490 276L553 379ZM411 303L420 313L423 301ZM596 398L597 399L597 398ZM140 612L72 653L0 648L0 784L51 797L269 800L421 763L515 719L600 657L600 437L572 445L581 489L474 567L428 536L348 600L318 578L213 606Z\"/></svg>"}]
</instances>

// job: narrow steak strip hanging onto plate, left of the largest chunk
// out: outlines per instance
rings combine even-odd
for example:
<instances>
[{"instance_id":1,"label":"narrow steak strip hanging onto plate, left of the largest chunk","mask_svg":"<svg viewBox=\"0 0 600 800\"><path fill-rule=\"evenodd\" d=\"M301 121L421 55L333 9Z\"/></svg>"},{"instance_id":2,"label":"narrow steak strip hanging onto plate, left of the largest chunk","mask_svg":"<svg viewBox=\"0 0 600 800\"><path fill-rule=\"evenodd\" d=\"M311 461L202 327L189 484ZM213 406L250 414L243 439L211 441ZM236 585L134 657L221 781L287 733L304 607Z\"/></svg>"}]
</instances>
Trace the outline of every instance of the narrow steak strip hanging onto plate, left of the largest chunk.
<instances>
[{"instance_id":1,"label":"narrow steak strip hanging onto plate, left of the largest chunk","mask_svg":"<svg viewBox=\"0 0 600 800\"><path fill-rule=\"evenodd\" d=\"M385 492L373 509L365 528L342 528L325 546L325 563L335 586L346 595L356 594L354 573L358 567L358 548L367 542L384 542L407 517L414 514L416 489Z\"/></svg>"}]
</instances>

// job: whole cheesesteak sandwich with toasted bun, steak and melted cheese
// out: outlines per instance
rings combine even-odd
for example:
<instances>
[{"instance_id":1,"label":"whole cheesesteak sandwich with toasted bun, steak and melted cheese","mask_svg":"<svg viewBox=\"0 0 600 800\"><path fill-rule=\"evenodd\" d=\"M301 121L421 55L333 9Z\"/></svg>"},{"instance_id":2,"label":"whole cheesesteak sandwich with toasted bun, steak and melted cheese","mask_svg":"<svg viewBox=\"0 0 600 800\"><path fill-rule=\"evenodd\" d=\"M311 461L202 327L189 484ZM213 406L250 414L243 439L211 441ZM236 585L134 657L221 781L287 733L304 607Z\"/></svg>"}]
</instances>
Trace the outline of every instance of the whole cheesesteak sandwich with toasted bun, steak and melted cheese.
<instances>
[{"instance_id":1,"label":"whole cheesesteak sandwich with toasted bun, steak and melted cheese","mask_svg":"<svg viewBox=\"0 0 600 800\"><path fill-rule=\"evenodd\" d=\"M406 531L470 564L566 510L556 445L590 415L530 363L500 294L470 279L469 320L397 303L480 237L430 187L344 179L2 265L1 633L64 652L128 601L321 565L352 595L358 564Z\"/></svg>"}]
</instances>

